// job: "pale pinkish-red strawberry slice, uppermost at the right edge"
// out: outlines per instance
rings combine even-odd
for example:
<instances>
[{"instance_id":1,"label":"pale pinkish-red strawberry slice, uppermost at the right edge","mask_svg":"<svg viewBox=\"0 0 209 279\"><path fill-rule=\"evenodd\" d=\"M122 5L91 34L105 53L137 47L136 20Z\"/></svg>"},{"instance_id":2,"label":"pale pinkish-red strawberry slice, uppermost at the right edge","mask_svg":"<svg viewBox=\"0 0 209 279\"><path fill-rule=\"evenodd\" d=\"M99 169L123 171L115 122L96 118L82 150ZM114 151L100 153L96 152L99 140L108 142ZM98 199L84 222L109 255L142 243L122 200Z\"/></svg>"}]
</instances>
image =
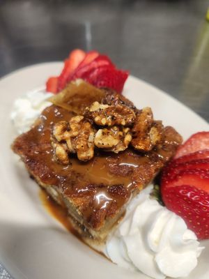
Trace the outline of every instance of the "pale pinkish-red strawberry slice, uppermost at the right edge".
<instances>
[{"instance_id":1,"label":"pale pinkish-red strawberry slice, uppermost at the right edge","mask_svg":"<svg viewBox=\"0 0 209 279\"><path fill-rule=\"evenodd\" d=\"M178 148L174 158L203 149L209 149L209 132L199 132L189 137L189 139Z\"/></svg>"}]
</instances>

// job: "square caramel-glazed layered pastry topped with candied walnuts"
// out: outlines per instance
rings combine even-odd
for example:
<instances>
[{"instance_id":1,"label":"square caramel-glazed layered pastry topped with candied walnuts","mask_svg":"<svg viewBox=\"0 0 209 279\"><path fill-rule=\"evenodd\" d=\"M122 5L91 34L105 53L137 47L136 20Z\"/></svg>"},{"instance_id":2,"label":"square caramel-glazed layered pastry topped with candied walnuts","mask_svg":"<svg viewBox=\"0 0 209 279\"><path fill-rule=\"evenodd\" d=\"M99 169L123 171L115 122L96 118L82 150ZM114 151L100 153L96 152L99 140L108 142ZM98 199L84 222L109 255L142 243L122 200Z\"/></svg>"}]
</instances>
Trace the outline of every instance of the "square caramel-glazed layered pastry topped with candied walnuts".
<instances>
[{"instance_id":1,"label":"square caramel-glazed layered pastry topped with candied walnuts","mask_svg":"<svg viewBox=\"0 0 209 279\"><path fill-rule=\"evenodd\" d=\"M49 99L12 149L84 241L104 243L182 137L124 96L78 80Z\"/></svg>"}]
</instances>

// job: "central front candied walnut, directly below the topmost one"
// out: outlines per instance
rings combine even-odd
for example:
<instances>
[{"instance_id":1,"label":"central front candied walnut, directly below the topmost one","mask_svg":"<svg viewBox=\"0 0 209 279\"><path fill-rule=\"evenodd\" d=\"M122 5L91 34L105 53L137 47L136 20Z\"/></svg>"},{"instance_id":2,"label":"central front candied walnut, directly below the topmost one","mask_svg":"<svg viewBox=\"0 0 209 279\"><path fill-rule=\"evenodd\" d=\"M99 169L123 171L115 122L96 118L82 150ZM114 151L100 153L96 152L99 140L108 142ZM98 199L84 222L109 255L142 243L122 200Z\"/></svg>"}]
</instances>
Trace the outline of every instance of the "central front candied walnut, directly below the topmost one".
<instances>
[{"instance_id":1,"label":"central front candied walnut, directly below the topmost one","mask_svg":"<svg viewBox=\"0 0 209 279\"><path fill-rule=\"evenodd\" d=\"M130 128L120 130L117 126L99 129L95 134L94 144L100 149L118 153L127 149L132 140Z\"/></svg>"}]
</instances>

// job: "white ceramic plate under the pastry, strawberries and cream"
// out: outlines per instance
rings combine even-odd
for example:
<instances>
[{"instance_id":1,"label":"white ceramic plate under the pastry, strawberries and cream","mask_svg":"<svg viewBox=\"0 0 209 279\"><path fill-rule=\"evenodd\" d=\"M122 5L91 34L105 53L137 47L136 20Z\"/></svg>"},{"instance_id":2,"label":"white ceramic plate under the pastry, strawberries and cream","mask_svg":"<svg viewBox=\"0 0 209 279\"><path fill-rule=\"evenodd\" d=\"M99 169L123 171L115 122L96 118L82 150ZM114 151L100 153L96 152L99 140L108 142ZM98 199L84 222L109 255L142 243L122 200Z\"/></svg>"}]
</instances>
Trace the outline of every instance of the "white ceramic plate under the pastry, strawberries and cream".
<instances>
[{"instance_id":1,"label":"white ceramic plate under the pastry, strawberries and cream","mask_svg":"<svg viewBox=\"0 0 209 279\"><path fill-rule=\"evenodd\" d=\"M36 183L29 179L10 144L15 138L10 110L15 98L45 84L62 63L42 63L17 70L0 80L0 262L15 279L148 278L111 264L81 243L42 206ZM189 137L209 130L208 123L166 93L129 77L124 94L137 107L153 108L155 119ZM209 241L189 279L208 279ZM143 257L143 255L141 255Z\"/></svg>"}]
</instances>

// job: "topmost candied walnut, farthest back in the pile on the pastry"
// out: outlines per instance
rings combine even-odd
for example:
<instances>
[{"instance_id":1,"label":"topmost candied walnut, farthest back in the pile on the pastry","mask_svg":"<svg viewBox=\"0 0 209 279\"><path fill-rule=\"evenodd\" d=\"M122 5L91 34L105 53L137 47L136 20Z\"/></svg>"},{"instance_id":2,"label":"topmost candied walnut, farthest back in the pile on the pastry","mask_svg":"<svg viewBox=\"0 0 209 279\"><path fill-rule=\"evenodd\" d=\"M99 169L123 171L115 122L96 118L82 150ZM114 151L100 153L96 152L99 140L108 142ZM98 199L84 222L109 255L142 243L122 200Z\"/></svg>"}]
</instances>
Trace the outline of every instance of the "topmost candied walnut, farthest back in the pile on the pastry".
<instances>
[{"instance_id":1,"label":"topmost candied walnut, farthest back in the pile on the pastry","mask_svg":"<svg viewBox=\"0 0 209 279\"><path fill-rule=\"evenodd\" d=\"M100 126L129 126L136 118L134 110L125 105L102 105L94 102L86 107L85 116Z\"/></svg>"}]
</instances>

